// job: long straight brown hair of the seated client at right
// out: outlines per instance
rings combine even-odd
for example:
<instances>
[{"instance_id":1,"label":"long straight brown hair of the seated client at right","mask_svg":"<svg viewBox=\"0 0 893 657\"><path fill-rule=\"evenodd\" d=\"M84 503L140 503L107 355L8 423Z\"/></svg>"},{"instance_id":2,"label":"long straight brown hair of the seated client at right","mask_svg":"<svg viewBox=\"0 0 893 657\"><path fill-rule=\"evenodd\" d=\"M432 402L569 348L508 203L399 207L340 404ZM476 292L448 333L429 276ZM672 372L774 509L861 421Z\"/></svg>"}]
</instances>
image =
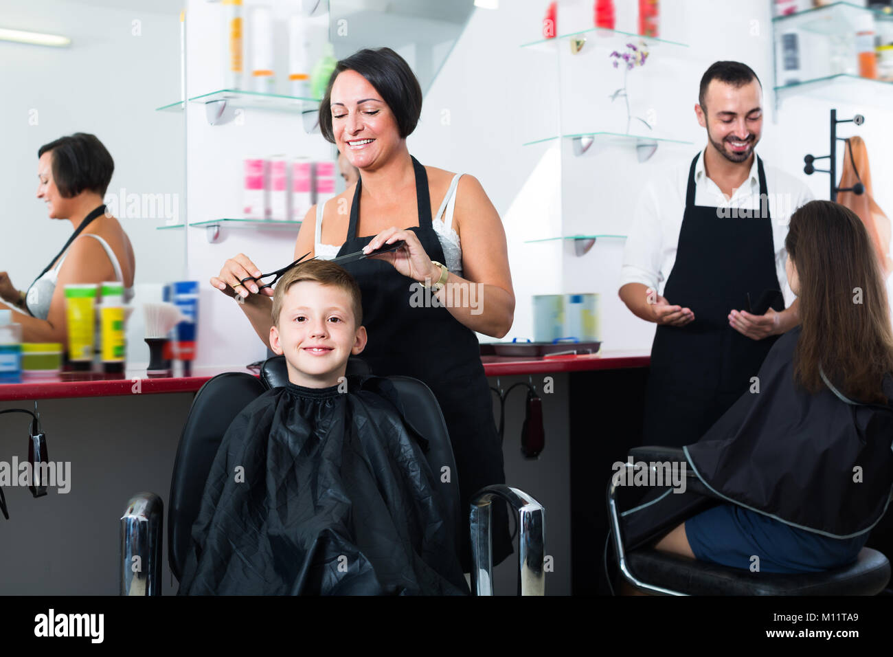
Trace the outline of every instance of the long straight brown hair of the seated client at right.
<instances>
[{"instance_id":1,"label":"long straight brown hair of the seated client at right","mask_svg":"<svg viewBox=\"0 0 893 657\"><path fill-rule=\"evenodd\" d=\"M797 382L819 392L821 367L849 399L886 404L881 381L893 372L893 331L880 263L864 224L845 206L810 201L791 215L785 248L800 287Z\"/></svg>"}]
</instances>

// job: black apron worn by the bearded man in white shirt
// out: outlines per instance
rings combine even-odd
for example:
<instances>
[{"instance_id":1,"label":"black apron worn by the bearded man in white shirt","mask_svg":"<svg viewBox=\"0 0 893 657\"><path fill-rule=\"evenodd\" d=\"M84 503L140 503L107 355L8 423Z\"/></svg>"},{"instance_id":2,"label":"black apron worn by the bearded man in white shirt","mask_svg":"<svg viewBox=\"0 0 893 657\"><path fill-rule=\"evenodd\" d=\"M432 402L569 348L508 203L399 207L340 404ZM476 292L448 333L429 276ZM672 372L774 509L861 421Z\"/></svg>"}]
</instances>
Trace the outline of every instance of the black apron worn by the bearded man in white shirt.
<instances>
[{"instance_id":1,"label":"black apron worn by the bearded man in white shirt","mask_svg":"<svg viewBox=\"0 0 893 657\"><path fill-rule=\"evenodd\" d=\"M775 273L772 217L763 161L757 157L761 207L752 216L723 217L716 207L695 205L695 166L691 161L685 215L672 273L663 297L689 307L694 321L658 325L651 348L651 372L643 444L681 447L697 442L746 392L772 344L772 335L751 340L729 325L729 313L780 290ZM772 307L784 309L776 300Z\"/></svg>"}]
</instances>

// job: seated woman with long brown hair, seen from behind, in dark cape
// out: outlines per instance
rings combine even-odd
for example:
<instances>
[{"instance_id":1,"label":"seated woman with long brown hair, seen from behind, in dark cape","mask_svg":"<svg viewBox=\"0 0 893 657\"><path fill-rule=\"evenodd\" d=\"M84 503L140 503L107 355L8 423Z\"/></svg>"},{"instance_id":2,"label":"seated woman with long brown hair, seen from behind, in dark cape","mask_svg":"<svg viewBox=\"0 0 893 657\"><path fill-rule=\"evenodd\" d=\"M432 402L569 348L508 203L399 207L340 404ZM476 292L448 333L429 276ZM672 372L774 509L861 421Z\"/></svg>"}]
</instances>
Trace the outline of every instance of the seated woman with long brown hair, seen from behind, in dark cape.
<instances>
[{"instance_id":1,"label":"seated woman with long brown hair, seen from behind, in dark cape","mask_svg":"<svg viewBox=\"0 0 893 657\"><path fill-rule=\"evenodd\" d=\"M791 216L785 246L801 324L772 346L751 390L683 448L682 465L721 501L657 550L753 571L833 569L856 559L887 510L893 334L872 242L851 210L812 201Z\"/></svg>"}]
</instances>

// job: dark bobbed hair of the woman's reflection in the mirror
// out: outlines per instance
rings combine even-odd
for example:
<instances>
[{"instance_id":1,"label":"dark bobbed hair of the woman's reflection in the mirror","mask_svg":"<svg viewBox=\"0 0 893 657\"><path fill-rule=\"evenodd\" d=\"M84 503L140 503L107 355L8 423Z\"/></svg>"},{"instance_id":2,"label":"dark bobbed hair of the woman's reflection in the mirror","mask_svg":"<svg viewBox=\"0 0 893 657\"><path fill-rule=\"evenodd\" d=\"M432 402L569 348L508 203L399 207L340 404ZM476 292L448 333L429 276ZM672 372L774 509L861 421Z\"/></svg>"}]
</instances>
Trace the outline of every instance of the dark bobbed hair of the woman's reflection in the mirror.
<instances>
[{"instance_id":1,"label":"dark bobbed hair of the woman's reflection in the mirror","mask_svg":"<svg viewBox=\"0 0 893 657\"><path fill-rule=\"evenodd\" d=\"M63 198L78 196L82 191L95 191L105 196L114 173L112 155L95 135L75 132L44 144L38 157L53 153L53 180Z\"/></svg>"}]
</instances>

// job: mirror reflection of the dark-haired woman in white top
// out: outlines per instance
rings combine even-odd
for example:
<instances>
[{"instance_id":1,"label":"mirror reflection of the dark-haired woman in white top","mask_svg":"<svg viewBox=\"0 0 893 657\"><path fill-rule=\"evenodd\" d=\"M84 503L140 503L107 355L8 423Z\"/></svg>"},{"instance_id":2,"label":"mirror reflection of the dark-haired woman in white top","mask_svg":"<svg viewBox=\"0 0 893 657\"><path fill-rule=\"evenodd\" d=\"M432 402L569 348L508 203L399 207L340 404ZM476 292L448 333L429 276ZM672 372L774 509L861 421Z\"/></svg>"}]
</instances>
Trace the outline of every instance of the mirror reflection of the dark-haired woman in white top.
<instances>
[{"instance_id":1,"label":"mirror reflection of the dark-haired woman in white top","mask_svg":"<svg viewBox=\"0 0 893 657\"><path fill-rule=\"evenodd\" d=\"M0 272L0 297L28 313L13 313L22 341L65 343L64 286L123 281L128 300L136 263L127 233L105 215L103 197L114 162L102 142L78 132L40 147L38 157L38 198L50 219L67 219L74 232L28 291L16 290Z\"/></svg>"}]
</instances>

